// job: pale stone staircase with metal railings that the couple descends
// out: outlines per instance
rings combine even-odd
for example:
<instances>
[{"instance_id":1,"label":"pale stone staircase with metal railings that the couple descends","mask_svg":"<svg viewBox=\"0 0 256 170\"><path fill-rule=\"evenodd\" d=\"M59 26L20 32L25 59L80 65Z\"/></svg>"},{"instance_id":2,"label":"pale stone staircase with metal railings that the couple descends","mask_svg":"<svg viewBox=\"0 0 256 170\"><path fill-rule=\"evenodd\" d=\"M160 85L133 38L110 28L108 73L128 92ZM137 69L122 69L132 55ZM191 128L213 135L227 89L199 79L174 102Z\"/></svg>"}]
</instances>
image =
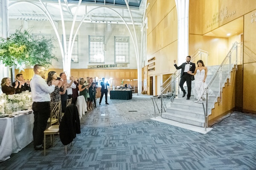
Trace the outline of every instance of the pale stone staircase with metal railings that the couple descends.
<instances>
[{"instance_id":1,"label":"pale stone staircase with metal railings that the couple descends","mask_svg":"<svg viewBox=\"0 0 256 170\"><path fill-rule=\"evenodd\" d=\"M174 74L172 74L172 76L169 77L169 79L167 79L161 86L161 94L151 97L154 104L156 103L154 102L155 99L162 99L163 101L164 94L167 94L168 91L172 91L172 103L170 103L169 106L167 105L166 108L164 102L161 102L160 107L157 106L158 108L163 108L161 109L160 116L164 119L205 127L206 130L208 126L208 116L211 115L212 108L215 107L215 103L217 102L218 98L218 102L220 104L222 103L222 89L225 86L227 79L230 79L231 72L237 69L238 44L239 43L237 42L233 44L221 65L207 66L208 73L206 83L208 86L204 91L206 99L203 101L195 102L197 100L194 99L193 95L194 81L192 81L190 100L186 100L186 96L182 97L183 92L182 94L179 94L180 88L178 85L180 80L180 72L176 71ZM202 59L203 55L208 57L208 52L198 49L191 56L192 62L196 63L199 59ZM207 58L204 59L207 60ZM184 89L187 92L186 86ZM156 111L156 109L154 109L154 111Z\"/></svg>"}]
</instances>

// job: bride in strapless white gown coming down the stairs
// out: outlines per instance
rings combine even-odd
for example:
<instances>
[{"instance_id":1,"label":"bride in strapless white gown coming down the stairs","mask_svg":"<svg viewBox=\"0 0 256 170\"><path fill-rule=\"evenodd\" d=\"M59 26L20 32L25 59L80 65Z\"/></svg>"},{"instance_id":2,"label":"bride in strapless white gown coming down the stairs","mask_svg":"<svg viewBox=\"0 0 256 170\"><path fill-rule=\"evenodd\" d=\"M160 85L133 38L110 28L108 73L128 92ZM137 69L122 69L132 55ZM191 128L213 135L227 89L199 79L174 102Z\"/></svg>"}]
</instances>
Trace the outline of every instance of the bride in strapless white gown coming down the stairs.
<instances>
[{"instance_id":1,"label":"bride in strapless white gown coming down the stairs","mask_svg":"<svg viewBox=\"0 0 256 170\"><path fill-rule=\"evenodd\" d=\"M193 94L195 99L202 100L205 99L204 93L205 88L207 88L207 84L205 83L205 79L207 77L207 67L204 66L204 62L202 60L198 60L198 67L195 68L195 72L191 73L188 71L188 74L195 75L195 87L193 88ZM201 98L202 96L202 98Z\"/></svg>"}]
</instances>

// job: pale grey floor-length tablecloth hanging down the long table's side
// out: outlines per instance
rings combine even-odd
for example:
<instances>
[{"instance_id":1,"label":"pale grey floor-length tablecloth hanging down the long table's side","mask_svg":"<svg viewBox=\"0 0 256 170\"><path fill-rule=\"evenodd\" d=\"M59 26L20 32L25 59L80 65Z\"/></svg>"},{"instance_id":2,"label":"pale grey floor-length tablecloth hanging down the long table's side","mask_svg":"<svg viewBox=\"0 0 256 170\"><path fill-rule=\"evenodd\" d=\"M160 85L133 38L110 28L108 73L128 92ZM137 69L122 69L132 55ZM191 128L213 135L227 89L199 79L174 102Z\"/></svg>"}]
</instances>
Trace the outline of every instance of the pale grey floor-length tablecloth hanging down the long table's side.
<instances>
[{"instance_id":1,"label":"pale grey floor-length tablecloth hanging down the long table's side","mask_svg":"<svg viewBox=\"0 0 256 170\"><path fill-rule=\"evenodd\" d=\"M0 162L10 158L33 141L34 114L21 113L0 118Z\"/></svg>"}]
</instances>

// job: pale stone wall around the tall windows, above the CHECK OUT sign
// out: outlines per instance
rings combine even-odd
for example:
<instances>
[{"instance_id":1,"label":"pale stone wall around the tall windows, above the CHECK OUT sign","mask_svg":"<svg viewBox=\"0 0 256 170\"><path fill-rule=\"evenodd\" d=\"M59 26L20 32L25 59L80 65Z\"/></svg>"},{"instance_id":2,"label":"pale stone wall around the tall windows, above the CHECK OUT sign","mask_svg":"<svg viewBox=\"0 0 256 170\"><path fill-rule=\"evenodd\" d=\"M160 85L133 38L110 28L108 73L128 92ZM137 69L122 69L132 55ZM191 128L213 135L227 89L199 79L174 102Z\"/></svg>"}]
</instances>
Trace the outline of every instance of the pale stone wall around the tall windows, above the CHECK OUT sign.
<instances>
[{"instance_id":1,"label":"pale stone wall around the tall windows, above the CHECK OUT sign","mask_svg":"<svg viewBox=\"0 0 256 170\"><path fill-rule=\"evenodd\" d=\"M55 31L52 28L52 25L49 21L23 21L12 19L9 20L10 24L10 34L14 33L16 29L31 29L31 34L51 34L52 37L56 40L56 48L54 49L54 54L59 58L59 61L53 61L50 68L63 68L62 65L62 57L59 48L59 44L57 42L57 37L55 35ZM59 21L56 23L58 26L58 34L62 40L62 25ZM65 22L65 30L66 34L70 34L72 22ZM104 27L103 23L83 23L78 32L78 43L79 43L79 63L71 63L71 68L87 68L89 63L89 35L104 35ZM75 31L79 26L79 22L75 25ZM26 28L25 28L26 27ZM134 33L132 26L129 26L131 32ZM139 54L140 54L140 43L141 43L141 32L140 26L135 26L137 32L137 40L139 46ZM74 31L74 32L75 32ZM107 26L105 24L105 43L107 44L107 51L105 52L105 64L113 64L114 63L114 36L129 36L130 37L130 63L128 64L128 68L126 69L136 69L137 68L137 60L134 50L134 44L131 39L131 35L129 34L128 29L124 24L111 24ZM135 40L135 37L134 37ZM94 65L93 63L90 63ZM95 63L95 65L97 65Z\"/></svg>"}]
</instances>

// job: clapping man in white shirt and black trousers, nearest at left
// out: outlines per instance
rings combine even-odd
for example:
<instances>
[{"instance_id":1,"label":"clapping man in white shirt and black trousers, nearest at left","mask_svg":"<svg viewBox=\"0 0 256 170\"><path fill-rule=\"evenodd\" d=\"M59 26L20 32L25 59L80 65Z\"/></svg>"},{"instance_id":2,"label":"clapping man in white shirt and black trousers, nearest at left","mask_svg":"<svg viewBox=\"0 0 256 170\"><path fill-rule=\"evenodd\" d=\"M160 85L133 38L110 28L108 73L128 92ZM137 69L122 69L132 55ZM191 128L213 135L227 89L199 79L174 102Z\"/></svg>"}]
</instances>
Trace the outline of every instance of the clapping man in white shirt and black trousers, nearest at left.
<instances>
[{"instance_id":1,"label":"clapping man in white shirt and black trousers, nearest at left","mask_svg":"<svg viewBox=\"0 0 256 170\"><path fill-rule=\"evenodd\" d=\"M30 82L31 95L32 95L32 110L34 111L34 149L44 150L43 139L44 130L47 126L47 120L50 116L50 94L54 91L55 86L58 85L58 80L52 82L51 86L48 86L45 78L45 68L43 65L35 65L35 75ZM46 146L48 149L50 146Z\"/></svg>"}]
</instances>

